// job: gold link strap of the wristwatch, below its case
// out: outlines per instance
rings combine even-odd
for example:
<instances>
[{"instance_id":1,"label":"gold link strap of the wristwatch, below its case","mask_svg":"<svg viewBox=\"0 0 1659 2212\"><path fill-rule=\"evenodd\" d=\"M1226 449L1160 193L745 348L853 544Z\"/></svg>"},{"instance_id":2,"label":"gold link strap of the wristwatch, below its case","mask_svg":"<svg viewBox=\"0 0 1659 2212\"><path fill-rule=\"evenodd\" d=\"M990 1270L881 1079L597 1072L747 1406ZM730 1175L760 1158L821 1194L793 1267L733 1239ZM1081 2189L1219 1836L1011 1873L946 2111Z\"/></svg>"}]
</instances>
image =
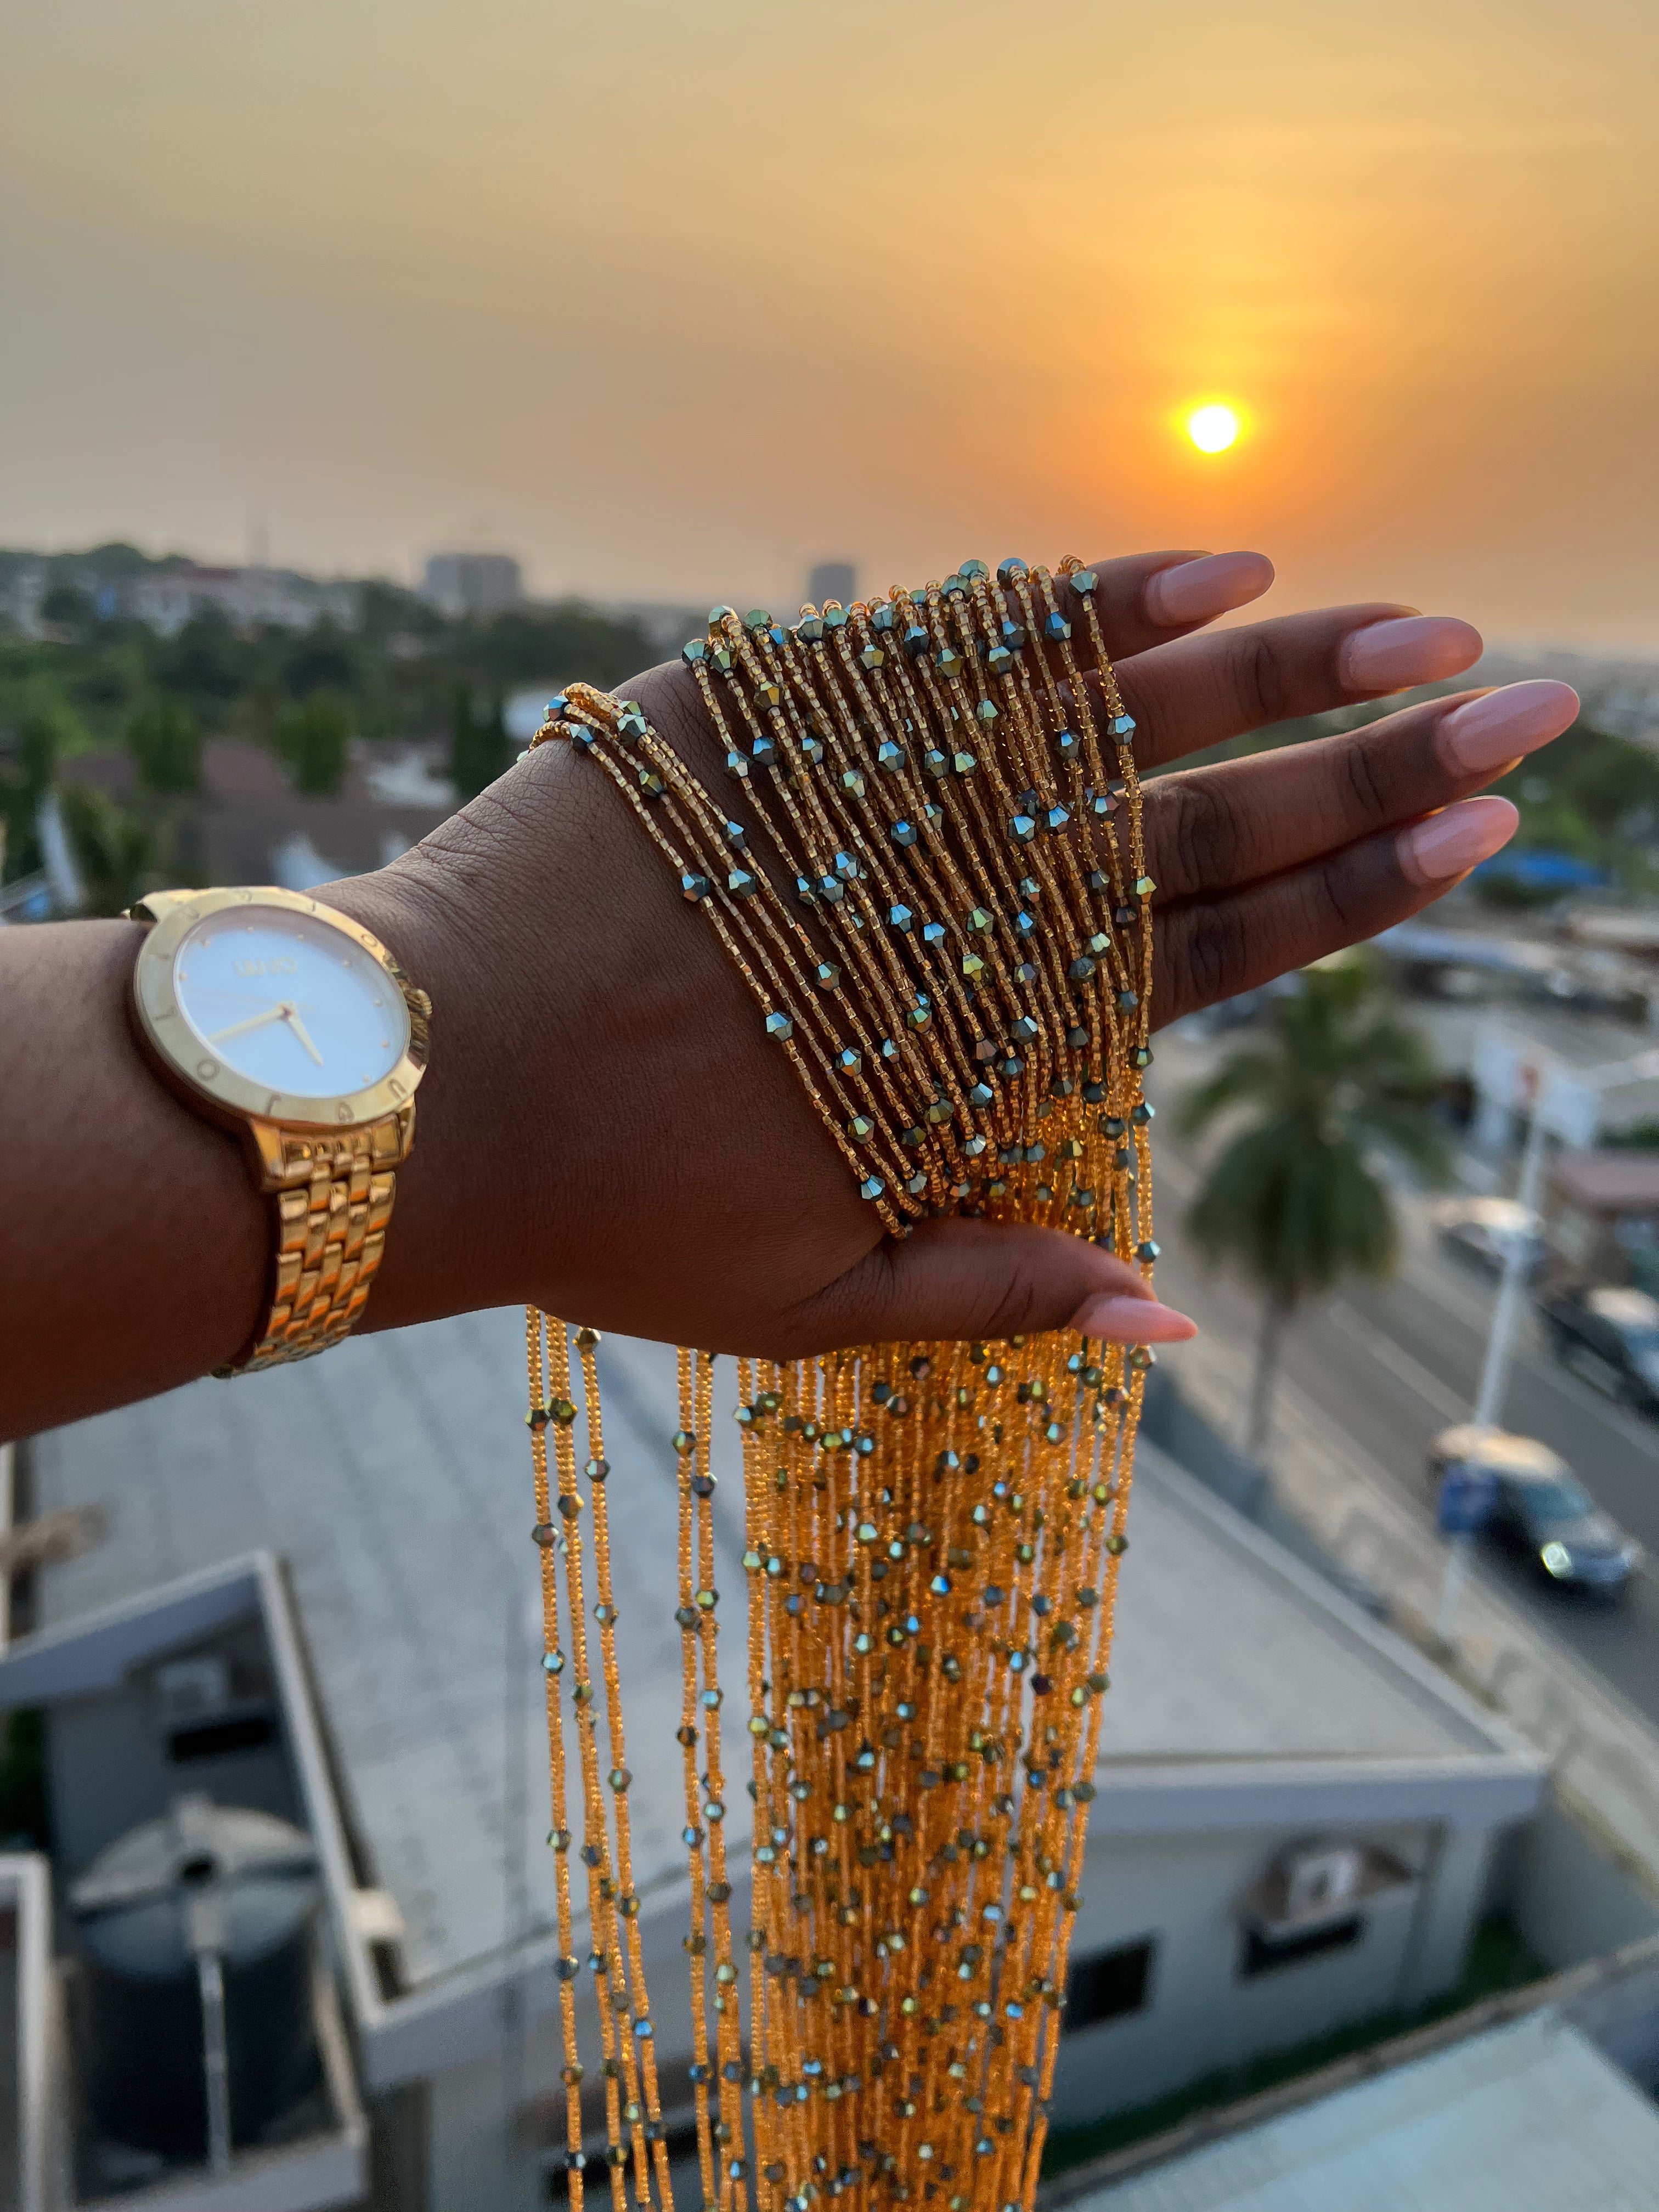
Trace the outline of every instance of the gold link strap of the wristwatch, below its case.
<instances>
[{"instance_id":1,"label":"gold link strap of the wristwatch, below its case","mask_svg":"<svg viewBox=\"0 0 1659 2212\"><path fill-rule=\"evenodd\" d=\"M270 1301L252 1347L221 1376L305 1360L352 1332L385 1252L414 1104L338 1135L254 1124L252 1137L276 1232Z\"/></svg>"}]
</instances>

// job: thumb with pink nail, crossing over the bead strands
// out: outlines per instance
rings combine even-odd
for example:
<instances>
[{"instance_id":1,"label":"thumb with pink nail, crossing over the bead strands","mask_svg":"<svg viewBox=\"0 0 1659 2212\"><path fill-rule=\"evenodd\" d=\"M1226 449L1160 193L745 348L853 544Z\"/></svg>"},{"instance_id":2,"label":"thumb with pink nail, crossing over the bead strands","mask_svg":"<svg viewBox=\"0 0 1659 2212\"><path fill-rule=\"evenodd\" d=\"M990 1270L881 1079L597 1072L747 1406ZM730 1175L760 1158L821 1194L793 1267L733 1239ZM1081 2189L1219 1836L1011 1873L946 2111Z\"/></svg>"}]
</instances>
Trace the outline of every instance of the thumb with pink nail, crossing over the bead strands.
<instances>
[{"instance_id":1,"label":"thumb with pink nail, crossing over the bead strands","mask_svg":"<svg viewBox=\"0 0 1659 2212\"><path fill-rule=\"evenodd\" d=\"M1117 1345L1168 1345L1197 1323L1159 1305L1137 1267L1086 1237L1029 1223L922 1221L891 1237L794 1316L801 1349L905 1338L1002 1338L1075 1329Z\"/></svg>"}]
</instances>

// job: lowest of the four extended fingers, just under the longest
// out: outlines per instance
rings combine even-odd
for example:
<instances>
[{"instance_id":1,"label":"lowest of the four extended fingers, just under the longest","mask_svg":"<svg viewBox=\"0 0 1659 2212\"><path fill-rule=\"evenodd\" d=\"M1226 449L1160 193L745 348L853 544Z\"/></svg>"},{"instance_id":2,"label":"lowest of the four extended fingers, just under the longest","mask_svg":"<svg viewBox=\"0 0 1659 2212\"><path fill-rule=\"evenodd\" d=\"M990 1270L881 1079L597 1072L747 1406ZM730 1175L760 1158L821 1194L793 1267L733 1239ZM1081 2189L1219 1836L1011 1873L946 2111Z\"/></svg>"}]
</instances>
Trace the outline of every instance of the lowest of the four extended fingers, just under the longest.
<instances>
[{"instance_id":1,"label":"lowest of the four extended fingers, just under the longest","mask_svg":"<svg viewBox=\"0 0 1659 2212\"><path fill-rule=\"evenodd\" d=\"M1159 1024L1407 920L1506 845L1517 823L1506 799L1460 799L1283 876L1161 909L1152 956Z\"/></svg>"}]
</instances>

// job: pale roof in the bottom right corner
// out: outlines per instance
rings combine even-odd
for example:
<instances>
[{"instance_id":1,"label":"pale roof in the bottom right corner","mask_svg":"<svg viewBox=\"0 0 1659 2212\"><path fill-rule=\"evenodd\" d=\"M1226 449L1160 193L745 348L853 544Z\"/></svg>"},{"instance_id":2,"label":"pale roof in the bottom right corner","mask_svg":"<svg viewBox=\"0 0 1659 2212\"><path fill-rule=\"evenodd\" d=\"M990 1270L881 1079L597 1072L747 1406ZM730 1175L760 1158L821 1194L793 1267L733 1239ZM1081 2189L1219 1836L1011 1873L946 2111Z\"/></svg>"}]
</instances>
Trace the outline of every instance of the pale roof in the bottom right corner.
<instances>
[{"instance_id":1,"label":"pale roof in the bottom right corner","mask_svg":"<svg viewBox=\"0 0 1659 2212\"><path fill-rule=\"evenodd\" d=\"M1557 2011L1210 2143L1068 2212L1639 2212L1659 2110Z\"/></svg>"}]
</instances>

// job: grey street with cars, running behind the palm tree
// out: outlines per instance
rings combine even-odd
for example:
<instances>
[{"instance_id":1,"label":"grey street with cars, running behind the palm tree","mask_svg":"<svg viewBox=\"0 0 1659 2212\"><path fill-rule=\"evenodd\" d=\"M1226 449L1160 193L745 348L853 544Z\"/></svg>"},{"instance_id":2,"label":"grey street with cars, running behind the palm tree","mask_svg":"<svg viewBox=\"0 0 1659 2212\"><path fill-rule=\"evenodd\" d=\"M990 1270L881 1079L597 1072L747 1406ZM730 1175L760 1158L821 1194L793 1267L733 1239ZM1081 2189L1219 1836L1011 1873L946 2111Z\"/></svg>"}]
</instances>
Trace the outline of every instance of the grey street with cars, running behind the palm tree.
<instances>
[{"instance_id":1,"label":"grey street with cars, running behind the palm tree","mask_svg":"<svg viewBox=\"0 0 1659 2212\"><path fill-rule=\"evenodd\" d=\"M1210 1048L1166 1035L1155 1097L1172 1102L1210 1057ZM1168 1119L1159 1126L1155 1155L1164 1248L1159 1296L1206 1329L1254 1334L1254 1298L1234 1281L1206 1272L1186 1248L1181 1217L1197 1177L1192 1157L1166 1130ZM1400 1274L1385 1285L1349 1283L1340 1296L1301 1316L1285 1345L1283 1371L1429 1522L1429 1440L1473 1409L1498 1285L1440 1252L1427 1201L1407 1197L1405 1214ZM1659 1420L1613 1402L1564 1369L1531 1305L1515 1334L1500 1420L1559 1451L1597 1502L1646 1546L1648 1559L1617 1608L1551 1588L1526 1562L1489 1546L1478 1548L1475 1573L1659 1723Z\"/></svg>"}]
</instances>

